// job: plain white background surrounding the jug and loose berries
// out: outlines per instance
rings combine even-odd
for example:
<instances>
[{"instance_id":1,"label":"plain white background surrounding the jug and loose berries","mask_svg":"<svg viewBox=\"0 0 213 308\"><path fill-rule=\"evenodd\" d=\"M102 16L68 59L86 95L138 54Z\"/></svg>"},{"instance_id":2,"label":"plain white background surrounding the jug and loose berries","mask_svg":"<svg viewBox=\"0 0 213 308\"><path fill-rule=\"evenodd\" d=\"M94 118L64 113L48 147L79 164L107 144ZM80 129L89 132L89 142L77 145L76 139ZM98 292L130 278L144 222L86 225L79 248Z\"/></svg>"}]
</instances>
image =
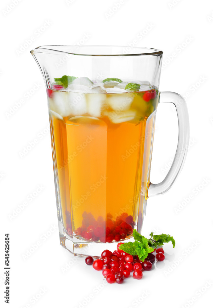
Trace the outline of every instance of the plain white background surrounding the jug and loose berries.
<instances>
[{"instance_id":1,"label":"plain white background surrounding the jug and loose berries","mask_svg":"<svg viewBox=\"0 0 213 308\"><path fill-rule=\"evenodd\" d=\"M13 2L1 2L0 9L0 301L4 301L5 290L3 240L4 234L10 233L10 307L195 308L211 305L212 2L174 0L172 4L172 0L124 0L118 9L115 6L118 0ZM43 30L44 25L47 28L39 33L37 29ZM140 32L141 39L138 38ZM164 69L160 90L181 95L188 92L190 146L186 163L168 193L148 200L143 226L145 236L151 231L173 235L176 247L166 244L164 262L144 272L141 280L128 278L122 285L105 284L101 272L88 267L84 259L73 257L59 245L51 142L46 130L45 87L29 52L41 45L82 43L85 34L89 36L83 42L85 45L128 46L136 39L135 46L161 49ZM31 37L34 37L32 42ZM22 48L26 40L28 46ZM35 83L39 89L26 99L25 93L33 89ZM21 107L8 116L10 108L21 99L24 99ZM41 139L40 132L43 132ZM20 152L35 138L39 142L21 158ZM158 183L165 177L177 138L178 124L171 104L160 105L152 182ZM11 218L38 185L43 187L38 196ZM189 195L192 195L190 200ZM181 204L182 209L175 211ZM36 247L38 241L41 245L24 259L27 250L32 245ZM178 261L180 257L182 261ZM65 272L64 268L67 268ZM205 287L207 281L210 281L209 288ZM39 295L42 288L43 295ZM202 288L201 294L198 290ZM90 296L93 298L88 302ZM3 302L3 306L7 304Z\"/></svg>"}]
</instances>

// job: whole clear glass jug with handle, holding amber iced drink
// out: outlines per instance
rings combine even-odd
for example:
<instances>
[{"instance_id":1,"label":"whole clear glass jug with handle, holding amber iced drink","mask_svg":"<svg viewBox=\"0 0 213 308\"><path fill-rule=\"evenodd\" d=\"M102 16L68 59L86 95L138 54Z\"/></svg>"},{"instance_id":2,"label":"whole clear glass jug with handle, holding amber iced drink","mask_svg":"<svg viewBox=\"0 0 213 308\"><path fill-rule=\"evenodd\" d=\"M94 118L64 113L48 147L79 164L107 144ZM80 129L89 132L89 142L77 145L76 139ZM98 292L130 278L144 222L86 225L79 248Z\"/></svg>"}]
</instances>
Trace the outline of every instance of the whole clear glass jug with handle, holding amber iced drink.
<instances>
[{"instance_id":1,"label":"whole clear glass jug with handle, holding amber iced drink","mask_svg":"<svg viewBox=\"0 0 213 308\"><path fill-rule=\"evenodd\" d=\"M128 51L128 52L127 52ZM148 197L166 193L189 142L186 102L160 92L163 52L120 46L41 46L31 51L47 89L60 244L100 256L141 233ZM173 164L150 183L158 103L173 103Z\"/></svg>"}]
</instances>

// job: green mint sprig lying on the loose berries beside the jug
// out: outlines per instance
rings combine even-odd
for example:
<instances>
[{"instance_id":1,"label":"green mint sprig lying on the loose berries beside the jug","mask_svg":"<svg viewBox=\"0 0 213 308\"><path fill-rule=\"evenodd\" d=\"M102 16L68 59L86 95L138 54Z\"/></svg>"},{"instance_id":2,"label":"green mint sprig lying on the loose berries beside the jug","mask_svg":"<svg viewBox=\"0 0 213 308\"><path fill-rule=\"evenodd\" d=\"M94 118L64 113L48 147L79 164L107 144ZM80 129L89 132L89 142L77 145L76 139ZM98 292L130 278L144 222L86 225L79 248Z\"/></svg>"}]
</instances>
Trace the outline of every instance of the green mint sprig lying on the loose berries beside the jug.
<instances>
[{"instance_id":1,"label":"green mint sprig lying on the loose berries beside the jug","mask_svg":"<svg viewBox=\"0 0 213 308\"><path fill-rule=\"evenodd\" d=\"M134 229L133 238L135 239L134 242L126 242L124 244L121 244L119 249L133 256L137 255L141 261L144 261L145 258L148 256L148 253L154 251L154 249L158 245L162 246L163 243L168 243L169 241L171 241L173 248L175 246L175 240L169 234L159 234L153 236L152 232L150 233L150 238L148 239Z\"/></svg>"}]
</instances>

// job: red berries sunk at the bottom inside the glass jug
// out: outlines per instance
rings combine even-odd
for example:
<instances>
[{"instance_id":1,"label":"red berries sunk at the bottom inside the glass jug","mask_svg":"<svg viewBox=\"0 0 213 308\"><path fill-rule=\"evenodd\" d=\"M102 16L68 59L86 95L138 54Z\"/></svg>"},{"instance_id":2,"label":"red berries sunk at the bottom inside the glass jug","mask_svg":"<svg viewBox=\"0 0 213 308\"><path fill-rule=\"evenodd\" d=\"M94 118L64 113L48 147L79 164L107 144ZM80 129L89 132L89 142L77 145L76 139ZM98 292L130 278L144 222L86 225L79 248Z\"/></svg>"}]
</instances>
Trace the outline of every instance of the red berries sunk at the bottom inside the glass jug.
<instances>
[{"instance_id":1,"label":"red berries sunk at the bottom inside the glass jug","mask_svg":"<svg viewBox=\"0 0 213 308\"><path fill-rule=\"evenodd\" d=\"M96 220L91 213L86 211L82 217L82 226L76 229L75 233L87 241L109 243L114 240L119 242L132 235L135 226L133 217L127 213L117 216L116 220L113 220L113 215L108 213L106 221L102 216Z\"/></svg>"}]
</instances>

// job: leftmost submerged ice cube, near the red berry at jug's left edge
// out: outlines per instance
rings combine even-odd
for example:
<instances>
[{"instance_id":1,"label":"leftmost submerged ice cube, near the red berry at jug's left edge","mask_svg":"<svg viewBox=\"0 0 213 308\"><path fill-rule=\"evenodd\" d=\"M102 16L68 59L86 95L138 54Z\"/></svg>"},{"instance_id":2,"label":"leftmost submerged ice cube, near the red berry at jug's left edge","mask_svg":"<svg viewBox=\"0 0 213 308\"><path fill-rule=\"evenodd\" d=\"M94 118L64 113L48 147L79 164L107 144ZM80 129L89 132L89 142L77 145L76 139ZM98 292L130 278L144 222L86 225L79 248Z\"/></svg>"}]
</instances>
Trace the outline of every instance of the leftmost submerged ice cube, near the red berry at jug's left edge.
<instances>
[{"instance_id":1,"label":"leftmost submerged ice cube, near the red berry at jug's left edge","mask_svg":"<svg viewBox=\"0 0 213 308\"><path fill-rule=\"evenodd\" d=\"M55 91L53 98L49 99L49 109L62 117L70 115L71 109L68 104L68 93Z\"/></svg>"}]
</instances>

